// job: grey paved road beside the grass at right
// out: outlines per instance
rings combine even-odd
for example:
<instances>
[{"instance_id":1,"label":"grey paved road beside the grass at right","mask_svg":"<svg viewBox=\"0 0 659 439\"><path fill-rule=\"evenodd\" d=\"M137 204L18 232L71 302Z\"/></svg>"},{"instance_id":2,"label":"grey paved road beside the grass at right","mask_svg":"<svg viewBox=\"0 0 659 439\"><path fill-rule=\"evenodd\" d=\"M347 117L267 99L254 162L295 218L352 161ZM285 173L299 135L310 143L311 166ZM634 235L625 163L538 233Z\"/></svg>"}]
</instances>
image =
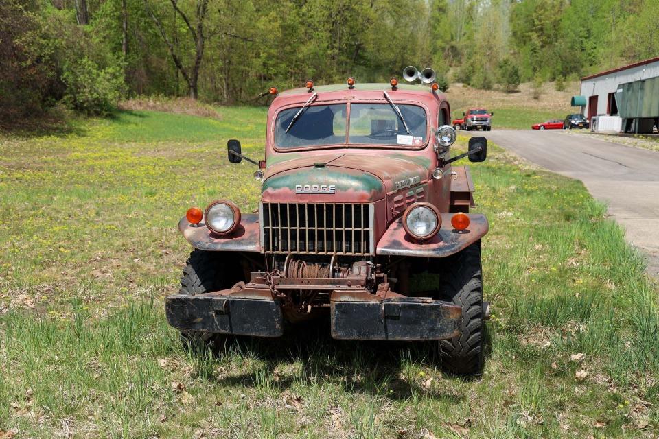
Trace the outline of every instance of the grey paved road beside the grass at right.
<instances>
[{"instance_id":1,"label":"grey paved road beside the grass at right","mask_svg":"<svg viewBox=\"0 0 659 439\"><path fill-rule=\"evenodd\" d=\"M493 130L485 137L545 169L577 178L659 274L659 152L560 131Z\"/></svg>"}]
</instances>

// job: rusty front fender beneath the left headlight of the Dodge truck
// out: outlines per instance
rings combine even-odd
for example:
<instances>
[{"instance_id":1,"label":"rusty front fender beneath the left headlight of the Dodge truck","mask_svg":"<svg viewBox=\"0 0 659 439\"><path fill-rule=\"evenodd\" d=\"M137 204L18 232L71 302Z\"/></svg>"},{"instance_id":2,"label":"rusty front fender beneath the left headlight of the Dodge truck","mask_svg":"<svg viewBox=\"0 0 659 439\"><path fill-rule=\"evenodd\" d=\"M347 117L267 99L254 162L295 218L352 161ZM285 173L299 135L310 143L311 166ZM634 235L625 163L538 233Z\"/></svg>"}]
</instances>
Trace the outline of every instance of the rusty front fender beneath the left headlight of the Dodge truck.
<instances>
[{"instance_id":1,"label":"rusty front fender beneath the left headlight of the Dodge truck","mask_svg":"<svg viewBox=\"0 0 659 439\"><path fill-rule=\"evenodd\" d=\"M206 224L190 224L185 217L178 222L183 237L199 250L211 252L261 252L259 215L244 213L240 225L231 235L219 236L211 232Z\"/></svg>"}]
</instances>

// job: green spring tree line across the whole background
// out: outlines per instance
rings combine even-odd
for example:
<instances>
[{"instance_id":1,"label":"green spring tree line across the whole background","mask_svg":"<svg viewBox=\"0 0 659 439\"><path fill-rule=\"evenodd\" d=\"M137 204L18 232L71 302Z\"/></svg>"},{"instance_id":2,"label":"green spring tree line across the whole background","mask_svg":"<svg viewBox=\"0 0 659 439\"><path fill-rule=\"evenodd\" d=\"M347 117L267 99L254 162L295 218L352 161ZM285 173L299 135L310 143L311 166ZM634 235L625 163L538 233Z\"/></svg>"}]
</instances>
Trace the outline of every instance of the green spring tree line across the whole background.
<instances>
[{"instance_id":1,"label":"green spring tree line across the whole background","mask_svg":"<svg viewBox=\"0 0 659 439\"><path fill-rule=\"evenodd\" d=\"M306 79L511 91L659 54L656 0L0 0L0 117L135 95L256 103Z\"/></svg>"}]
</instances>

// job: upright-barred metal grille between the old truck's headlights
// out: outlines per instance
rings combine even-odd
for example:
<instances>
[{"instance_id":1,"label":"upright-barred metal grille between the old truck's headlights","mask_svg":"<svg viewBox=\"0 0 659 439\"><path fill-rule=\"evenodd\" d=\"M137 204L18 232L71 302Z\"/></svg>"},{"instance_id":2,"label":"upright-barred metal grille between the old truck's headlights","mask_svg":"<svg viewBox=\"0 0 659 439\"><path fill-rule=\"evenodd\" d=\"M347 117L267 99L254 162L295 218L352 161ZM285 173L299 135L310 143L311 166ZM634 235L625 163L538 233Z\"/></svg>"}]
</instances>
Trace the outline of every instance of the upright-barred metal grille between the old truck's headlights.
<instances>
[{"instance_id":1,"label":"upright-barred metal grille between the old truck's headlights","mask_svg":"<svg viewBox=\"0 0 659 439\"><path fill-rule=\"evenodd\" d=\"M373 254L373 205L262 203L266 253Z\"/></svg>"}]
</instances>

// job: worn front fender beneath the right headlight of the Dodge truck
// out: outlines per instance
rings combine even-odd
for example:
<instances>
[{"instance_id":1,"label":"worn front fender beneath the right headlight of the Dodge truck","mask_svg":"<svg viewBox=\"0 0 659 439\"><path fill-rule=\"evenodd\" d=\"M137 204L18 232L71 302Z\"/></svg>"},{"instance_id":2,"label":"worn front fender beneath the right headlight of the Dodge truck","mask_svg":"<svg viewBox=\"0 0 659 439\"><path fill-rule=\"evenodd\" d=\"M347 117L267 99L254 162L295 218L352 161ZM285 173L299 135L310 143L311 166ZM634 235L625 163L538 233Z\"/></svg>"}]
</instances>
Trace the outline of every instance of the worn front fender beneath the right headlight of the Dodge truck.
<instances>
[{"instance_id":1,"label":"worn front fender beneath the right headlight of the Dodge truck","mask_svg":"<svg viewBox=\"0 0 659 439\"><path fill-rule=\"evenodd\" d=\"M402 219L391 223L386 229L375 254L392 256L413 256L424 258L441 258L457 253L478 241L487 233L489 224L481 213L470 213L467 230L458 232L451 226L452 213L441 214L441 227L435 237L428 241L417 242L411 239L403 228Z\"/></svg>"}]
</instances>

